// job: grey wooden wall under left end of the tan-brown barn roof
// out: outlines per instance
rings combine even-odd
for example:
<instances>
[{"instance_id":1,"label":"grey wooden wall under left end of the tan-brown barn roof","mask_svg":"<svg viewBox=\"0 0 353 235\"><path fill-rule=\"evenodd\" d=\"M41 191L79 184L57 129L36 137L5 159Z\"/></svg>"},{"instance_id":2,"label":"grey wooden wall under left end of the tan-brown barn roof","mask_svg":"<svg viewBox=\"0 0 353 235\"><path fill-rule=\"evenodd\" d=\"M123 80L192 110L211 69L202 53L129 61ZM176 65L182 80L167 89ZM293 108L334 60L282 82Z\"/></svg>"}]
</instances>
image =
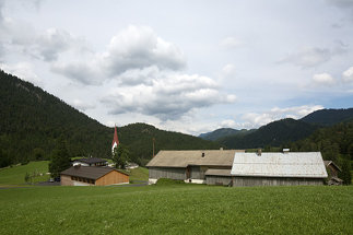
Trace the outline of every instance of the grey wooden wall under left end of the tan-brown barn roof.
<instances>
[{"instance_id":1,"label":"grey wooden wall under left end of the tan-brown barn roof","mask_svg":"<svg viewBox=\"0 0 353 235\"><path fill-rule=\"evenodd\" d=\"M170 178L170 179L186 179L186 168L177 167L149 167L149 177L153 179Z\"/></svg>"}]
</instances>

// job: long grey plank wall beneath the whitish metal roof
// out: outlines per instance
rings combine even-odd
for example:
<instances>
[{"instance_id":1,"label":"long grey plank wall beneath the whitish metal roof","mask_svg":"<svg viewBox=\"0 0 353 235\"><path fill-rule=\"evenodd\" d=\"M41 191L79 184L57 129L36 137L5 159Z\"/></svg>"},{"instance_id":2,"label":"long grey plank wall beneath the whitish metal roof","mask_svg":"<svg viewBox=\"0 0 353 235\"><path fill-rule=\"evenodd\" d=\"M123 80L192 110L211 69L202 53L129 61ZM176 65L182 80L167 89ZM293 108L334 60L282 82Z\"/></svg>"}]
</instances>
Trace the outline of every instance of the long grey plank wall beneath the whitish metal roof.
<instances>
[{"instance_id":1,"label":"long grey plank wall beneath the whitish metal roof","mask_svg":"<svg viewBox=\"0 0 353 235\"><path fill-rule=\"evenodd\" d=\"M320 178L244 177L234 176L233 186L323 185Z\"/></svg>"}]
</instances>

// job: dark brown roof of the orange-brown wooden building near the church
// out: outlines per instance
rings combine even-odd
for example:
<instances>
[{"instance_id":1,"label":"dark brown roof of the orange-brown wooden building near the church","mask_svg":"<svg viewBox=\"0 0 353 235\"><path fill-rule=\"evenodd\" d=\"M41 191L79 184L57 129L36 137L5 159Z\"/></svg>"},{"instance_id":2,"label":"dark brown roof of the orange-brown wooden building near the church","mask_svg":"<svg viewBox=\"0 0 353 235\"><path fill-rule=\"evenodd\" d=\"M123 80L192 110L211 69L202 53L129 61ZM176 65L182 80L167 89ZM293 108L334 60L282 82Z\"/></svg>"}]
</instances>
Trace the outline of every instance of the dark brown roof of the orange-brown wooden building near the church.
<instances>
[{"instance_id":1,"label":"dark brown roof of the orange-brown wooden building near the church","mask_svg":"<svg viewBox=\"0 0 353 235\"><path fill-rule=\"evenodd\" d=\"M89 179L98 179L102 176L110 173L111 171L119 172L128 175L127 173L120 172L111 167L99 167L99 166L71 166L70 168L61 172L61 175L77 176Z\"/></svg>"}]
</instances>

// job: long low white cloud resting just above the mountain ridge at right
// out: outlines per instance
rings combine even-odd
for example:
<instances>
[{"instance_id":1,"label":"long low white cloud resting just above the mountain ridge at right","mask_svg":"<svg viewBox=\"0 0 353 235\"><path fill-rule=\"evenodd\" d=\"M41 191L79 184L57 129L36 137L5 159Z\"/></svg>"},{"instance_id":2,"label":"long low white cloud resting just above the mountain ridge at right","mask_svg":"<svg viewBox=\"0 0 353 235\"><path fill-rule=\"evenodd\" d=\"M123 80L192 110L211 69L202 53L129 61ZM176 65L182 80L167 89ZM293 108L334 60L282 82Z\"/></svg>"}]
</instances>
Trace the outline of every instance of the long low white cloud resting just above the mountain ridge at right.
<instances>
[{"instance_id":1,"label":"long low white cloud resting just above the mountain ridge at right","mask_svg":"<svg viewBox=\"0 0 353 235\"><path fill-rule=\"evenodd\" d=\"M258 128L274 120L279 120L282 118L302 118L315 110L322 109L321 105L303 105L303 106L294 106L286 108L273 107L270 110L267 110L262 114L258 113L248 113L243 115L242 119L245 121L244 126L247 128Z\"/></svg>"}]
</instances>

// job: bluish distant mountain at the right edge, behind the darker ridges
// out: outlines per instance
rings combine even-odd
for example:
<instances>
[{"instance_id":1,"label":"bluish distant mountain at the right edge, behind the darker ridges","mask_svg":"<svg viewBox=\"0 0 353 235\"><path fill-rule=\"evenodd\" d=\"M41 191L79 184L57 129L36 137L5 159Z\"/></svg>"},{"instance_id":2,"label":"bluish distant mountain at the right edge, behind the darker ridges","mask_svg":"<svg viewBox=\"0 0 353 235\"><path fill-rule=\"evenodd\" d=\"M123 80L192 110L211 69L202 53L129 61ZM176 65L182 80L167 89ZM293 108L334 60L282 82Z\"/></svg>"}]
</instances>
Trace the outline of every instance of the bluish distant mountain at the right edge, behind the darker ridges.
<instances>
[{"instance_id":1,"label":"bluish distant mountain at the right edge, behind the darker ridges","mask_svg":"<svg viewBox=\"0 0 353 235\"><path fill-rule=\"evenodd\" d=\"M353 108L320 109L305 116L301 120L308 124L332 126L342 121L353 120Z\"/></svg>"}]
</instances>

